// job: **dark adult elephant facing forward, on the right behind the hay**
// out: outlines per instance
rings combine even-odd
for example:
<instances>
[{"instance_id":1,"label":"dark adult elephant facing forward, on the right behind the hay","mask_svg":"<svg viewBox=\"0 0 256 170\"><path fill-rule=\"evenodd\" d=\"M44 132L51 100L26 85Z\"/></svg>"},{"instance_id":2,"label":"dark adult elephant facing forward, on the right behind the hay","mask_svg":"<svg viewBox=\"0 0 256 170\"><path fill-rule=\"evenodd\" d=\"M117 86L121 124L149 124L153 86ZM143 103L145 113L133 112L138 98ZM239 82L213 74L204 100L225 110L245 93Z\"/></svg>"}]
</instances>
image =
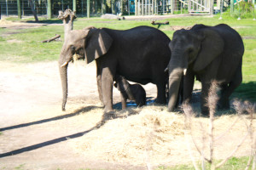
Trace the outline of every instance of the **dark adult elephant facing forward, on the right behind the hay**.
<instances>
[{"instance_id":1,"label":"dark adult elephant facing forward, on the right behind the hay","mask_svg":"<svg viewBox=\"0 0 256 170\"><path fill-rule=\"evenodd\" d=\"M169 47L172 50L172 58L167 67L169 71L168 110L174 109L181 80L183 80L183 100L190 101L195 77L201 81L202 85L202 114L209 114L206 103L212 80L221 82L218 108L229 109L230 94L242 80L241 60L244 46L241 36L224 24L195 25L190 30L174 32Z\"/></svg>"}]
</instances>

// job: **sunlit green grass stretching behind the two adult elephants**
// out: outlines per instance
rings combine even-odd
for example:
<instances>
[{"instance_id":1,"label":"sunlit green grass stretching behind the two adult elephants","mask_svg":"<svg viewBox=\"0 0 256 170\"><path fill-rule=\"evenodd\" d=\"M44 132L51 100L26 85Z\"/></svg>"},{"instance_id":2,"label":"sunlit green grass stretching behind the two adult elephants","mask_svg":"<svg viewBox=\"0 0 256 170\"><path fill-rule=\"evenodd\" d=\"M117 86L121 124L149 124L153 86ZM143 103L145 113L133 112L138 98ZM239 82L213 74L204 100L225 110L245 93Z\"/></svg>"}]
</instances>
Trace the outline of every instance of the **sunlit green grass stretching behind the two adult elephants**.
<instances>
[{"instance_id":1,"label":"sunlit green grass stretching behind the two adult elephants","mask_svg":"<svg viewBox=\"0 0 256 170\"><path fill-rule=\"evenodd\" d=\"M243 56L243 82L234 98L249 99L256 102L256 21L253 19L236 20L228 13L222 15L223 20L218 20L219 14L214 17L210 16L191 16L184 18L166 19L170 25L160 26L160 30L172 38L173 30L171 26L194 26L195 24L205 24L215 26L220 23L225 23L236 29L241 34L245 45L245 54ZM8 20L19 21L14 18ZM33 23L31 19L21 20L21 22ZM63 26L51 26L51 24L60 24L61 20L44 20L40 19L41 23L49 24L38 28L28 28L23 30L4 29L0 28L0 60L10 62L38 62L57 60L61 52L63 42L48 42L41 41L54 37L55 34L60 34L63 39ZM80 18L74 22L74 29L83 29L86 26L108 27L117 30L130 29L135 26L152 26L150 20L102 20L99 18L85 19ZM157 27L157 26L154 26ZM6 36L8 33L8 36ZM14 41L15 40L15 41Z\"/></svg>"}]
</instances>

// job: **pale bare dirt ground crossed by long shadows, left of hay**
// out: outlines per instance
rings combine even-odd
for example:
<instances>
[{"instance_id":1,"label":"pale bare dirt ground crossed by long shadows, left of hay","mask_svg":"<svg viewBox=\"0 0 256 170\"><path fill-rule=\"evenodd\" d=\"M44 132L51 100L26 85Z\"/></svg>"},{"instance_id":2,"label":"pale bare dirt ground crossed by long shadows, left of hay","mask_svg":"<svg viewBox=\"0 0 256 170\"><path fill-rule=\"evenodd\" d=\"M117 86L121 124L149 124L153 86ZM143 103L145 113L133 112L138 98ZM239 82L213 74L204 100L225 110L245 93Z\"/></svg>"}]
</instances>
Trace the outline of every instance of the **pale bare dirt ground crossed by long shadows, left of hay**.
<instances>
[{"instance_id":1,"label":"pale bare dirt ground crossed by long shadows, left of hay","mask_svg":"<svg viewBox=\"0 0 256 170\"><path fill-rule=\"evenodd\" d=\"M79 122L79 117L75 117L82 112L78 109L90 110L90 107L98 107L102 111L97 97L95 63L86 66L82 63L70 65L68 75L67 111L62 112L57 62L28 65L0 63L0 168L125 167L123 164L92 161L79 156L67 146L68 138L79 138L90 129L83 121ZM116 90L114 99L119 100ZM70 135L73 137L69 137ZM3 153L10 151L18 154L3 157Z\"/></svg>"}]
</instances>

